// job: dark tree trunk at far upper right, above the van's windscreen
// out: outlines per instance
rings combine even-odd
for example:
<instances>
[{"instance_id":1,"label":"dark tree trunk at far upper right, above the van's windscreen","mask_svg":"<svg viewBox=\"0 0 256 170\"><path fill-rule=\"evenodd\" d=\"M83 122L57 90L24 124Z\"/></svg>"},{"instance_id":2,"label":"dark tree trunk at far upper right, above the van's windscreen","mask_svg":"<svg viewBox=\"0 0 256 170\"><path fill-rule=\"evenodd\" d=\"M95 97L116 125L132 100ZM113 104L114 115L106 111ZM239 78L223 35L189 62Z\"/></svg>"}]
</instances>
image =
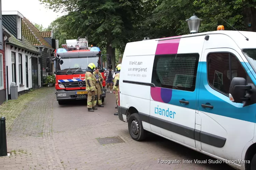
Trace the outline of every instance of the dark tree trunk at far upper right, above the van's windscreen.
<instances>
[{"instance_id":1,"label":"dark tree trunk at far upper right, above the van's windscreen","mask_svg":"<svg viewBox=\"0 0 256 170\"><path fill-rule=\"evenodd\" d=\"M243 9L243 18L246 31L256 32L256 9L254 7L245 7ZM251 23L251 27L248 24ZM250 39L250 37L247 37Z\"/></svg>"}]
</instances>

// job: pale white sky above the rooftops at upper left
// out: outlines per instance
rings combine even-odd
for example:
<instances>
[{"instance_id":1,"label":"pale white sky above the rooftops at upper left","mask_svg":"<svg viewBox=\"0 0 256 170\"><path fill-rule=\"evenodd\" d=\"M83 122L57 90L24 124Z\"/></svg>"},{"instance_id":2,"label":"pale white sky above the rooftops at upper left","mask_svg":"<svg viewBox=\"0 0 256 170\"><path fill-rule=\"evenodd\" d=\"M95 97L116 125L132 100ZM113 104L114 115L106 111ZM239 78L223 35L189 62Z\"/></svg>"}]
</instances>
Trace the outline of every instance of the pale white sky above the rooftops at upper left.
<instances>
[{"instance_id":1,"label":"pale white sky above the rooftops at upper left","mask_svg":"<svg viewBox=\"0 0 256 170\"><path fill-rule=\"evenodd\" d=\"M30 22L47 28L56 18L64 15L47 9L39 0L2 0L2 11L18 11Z\"/></svg>"}]
</instances>

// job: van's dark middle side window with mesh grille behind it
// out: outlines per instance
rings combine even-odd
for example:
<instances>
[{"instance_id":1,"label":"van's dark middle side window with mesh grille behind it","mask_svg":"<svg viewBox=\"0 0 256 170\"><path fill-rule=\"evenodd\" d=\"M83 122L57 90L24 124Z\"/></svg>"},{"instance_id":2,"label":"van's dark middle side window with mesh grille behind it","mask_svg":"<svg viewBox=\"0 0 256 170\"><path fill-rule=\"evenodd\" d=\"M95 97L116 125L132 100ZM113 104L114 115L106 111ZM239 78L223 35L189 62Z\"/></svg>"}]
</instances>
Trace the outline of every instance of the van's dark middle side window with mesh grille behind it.
<instances>
[{"instance_id":1,"label":"van's dark middle side window with mesh grille behind it","mask_svg":"<svg viewBox=\"0 0 256 170\"><path fill-rule=\"evenodd\" d=\"M152 83L157 87L194 91L199 54L156 55Z\"/></svg>"}]
</instances>

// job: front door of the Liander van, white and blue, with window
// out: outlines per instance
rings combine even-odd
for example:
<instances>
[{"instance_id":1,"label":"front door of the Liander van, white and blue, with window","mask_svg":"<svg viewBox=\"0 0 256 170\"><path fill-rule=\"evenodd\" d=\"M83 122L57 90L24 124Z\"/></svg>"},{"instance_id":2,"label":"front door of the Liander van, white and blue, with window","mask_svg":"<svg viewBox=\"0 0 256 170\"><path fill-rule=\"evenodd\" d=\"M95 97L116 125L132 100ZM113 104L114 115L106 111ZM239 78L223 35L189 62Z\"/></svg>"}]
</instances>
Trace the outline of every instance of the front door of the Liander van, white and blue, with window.
<instances>
[{"instance_id":1,"label":"front door of the Liander van, white and blue, with window","mask_svg":"<svg viewBox=\"0 0 256 170\"><path fill-rule=\"evenodd\" d=\"M233 49L206 49L201 58L198 98L200 149L238 163L246 143L253 139L256 112L255 104L242 107L243 104L229 100L232 78L250 79L245 71L248 68L241 62L242 57Z\"/></svg>"}]
</instances>

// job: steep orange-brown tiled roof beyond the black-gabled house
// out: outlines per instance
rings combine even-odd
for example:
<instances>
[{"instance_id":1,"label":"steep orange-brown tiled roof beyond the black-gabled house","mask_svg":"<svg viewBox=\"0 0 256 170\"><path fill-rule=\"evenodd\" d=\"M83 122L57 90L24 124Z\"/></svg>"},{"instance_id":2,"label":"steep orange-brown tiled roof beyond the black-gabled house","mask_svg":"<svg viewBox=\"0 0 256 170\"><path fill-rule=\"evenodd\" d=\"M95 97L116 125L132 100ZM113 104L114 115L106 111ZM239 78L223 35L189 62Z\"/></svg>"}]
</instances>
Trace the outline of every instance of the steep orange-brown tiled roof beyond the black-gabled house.
<instances>
[{"instance_id":1,"label":"steep orange-brown tiled roof beyond the black-gabled house","mask_svg":"<svg viewBox=\"0 0 256 170\"><path fill-rule=\"evenodd\" d=\"M51 45L47 43L40 31L25 17L22 19L22 34L33 46L45 46L52 49Z\"/></svg>"}]
</instances>

